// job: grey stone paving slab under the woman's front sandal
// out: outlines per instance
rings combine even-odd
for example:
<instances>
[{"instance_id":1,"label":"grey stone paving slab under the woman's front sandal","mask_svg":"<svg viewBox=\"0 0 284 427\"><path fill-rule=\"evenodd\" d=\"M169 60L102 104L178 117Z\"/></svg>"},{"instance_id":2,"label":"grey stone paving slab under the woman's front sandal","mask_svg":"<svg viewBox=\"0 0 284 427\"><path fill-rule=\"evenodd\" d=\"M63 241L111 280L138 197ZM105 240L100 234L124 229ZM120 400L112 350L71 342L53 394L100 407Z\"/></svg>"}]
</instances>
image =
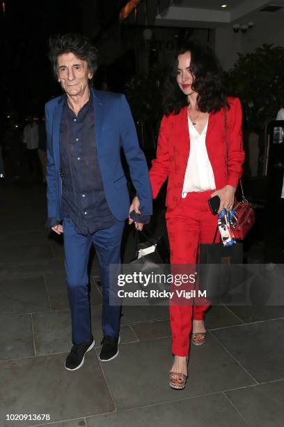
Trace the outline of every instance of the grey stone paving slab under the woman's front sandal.
<instances>
[{"instance_id":1,"label":"grey stone paving slab under the woman's front sandal","mask_svg":"<svg viewBox=\"0 0 284 427\"><path fill-rule=\"evenodd\" d=\"M179 400L181 395L168 387L171 363L169 338L121 345L119 357L102 363L118 410ZM253 384L251 377L209 335L205 345L191 349L182 398L249 384Z\"/></svg>"}]
</instances>

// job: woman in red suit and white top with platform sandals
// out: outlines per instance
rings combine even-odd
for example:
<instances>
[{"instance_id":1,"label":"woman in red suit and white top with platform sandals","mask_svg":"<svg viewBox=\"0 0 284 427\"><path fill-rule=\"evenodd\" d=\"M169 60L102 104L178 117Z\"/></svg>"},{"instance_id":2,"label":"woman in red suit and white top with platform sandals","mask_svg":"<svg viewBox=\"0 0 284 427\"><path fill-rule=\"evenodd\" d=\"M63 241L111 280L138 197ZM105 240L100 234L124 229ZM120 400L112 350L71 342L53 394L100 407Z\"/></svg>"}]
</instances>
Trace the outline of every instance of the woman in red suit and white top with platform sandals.
<instances>
[{"instance_id":1,"label":"woman in red suit and white top with platform sandals","mask_svg":"<svg viewBox=\"0 0 284 427\"><path fill-rule=\"evenodd\" d=\"M171 264L196 264L199 243L212 243L216 232L217 218L207 200L219 195L219 212L232 209L242 175L241 105L238 98L226 96L221 75L212 50L189 42L176 54L168 77L166 114L150 182L155 199L168 178L166 225ZM173 389L184 389L187 381L190 334L192 344L205 342L206 308L208 305L170 305Z\"/></svg>"}]
</instances>

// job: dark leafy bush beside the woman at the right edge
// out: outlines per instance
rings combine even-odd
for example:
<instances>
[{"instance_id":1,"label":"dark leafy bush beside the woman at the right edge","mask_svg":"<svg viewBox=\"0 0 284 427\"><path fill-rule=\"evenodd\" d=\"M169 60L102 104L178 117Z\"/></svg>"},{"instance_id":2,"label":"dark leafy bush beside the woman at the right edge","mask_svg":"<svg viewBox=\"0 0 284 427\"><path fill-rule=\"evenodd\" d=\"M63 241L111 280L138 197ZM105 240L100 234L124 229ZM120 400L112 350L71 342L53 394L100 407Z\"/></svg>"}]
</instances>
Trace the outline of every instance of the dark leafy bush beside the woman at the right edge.
<instances>
[{"instance_id":1,"label":"dark leafy bush beside the woman at the right edge","mask_svg":"<svg viewBox=\"0 0 284 427\"><path fill-rule=\"evenodd\" d=\"M260 133L284 104L284 47L262 45L238 56L228 87L242 102L244 126Z\"/></svg>"}]
</instances>

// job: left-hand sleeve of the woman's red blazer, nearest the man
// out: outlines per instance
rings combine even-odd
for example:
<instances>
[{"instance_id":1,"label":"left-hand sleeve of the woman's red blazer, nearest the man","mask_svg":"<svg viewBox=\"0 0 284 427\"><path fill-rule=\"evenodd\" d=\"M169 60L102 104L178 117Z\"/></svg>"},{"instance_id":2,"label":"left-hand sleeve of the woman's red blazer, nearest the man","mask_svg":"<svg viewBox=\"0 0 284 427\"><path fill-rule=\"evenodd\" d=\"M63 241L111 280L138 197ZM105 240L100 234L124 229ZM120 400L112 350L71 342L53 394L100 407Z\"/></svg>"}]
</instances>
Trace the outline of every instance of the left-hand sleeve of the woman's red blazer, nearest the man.
<instances>
[{"instance_id":1,"label":"left-hand sleeve of the woman's red blazer, nearest the man","mask_svg":"<svg viewBox=\"0 0 284 427\"><path fill-rule=\"evenodd\" d=\"M152 167L149 172L153 199L157 197L161 186L164 181L166 181L168 170L168 118L164 116L161 119L161 126L159 129L156 158L152 160Z\"/></svg>"}]
</instances>

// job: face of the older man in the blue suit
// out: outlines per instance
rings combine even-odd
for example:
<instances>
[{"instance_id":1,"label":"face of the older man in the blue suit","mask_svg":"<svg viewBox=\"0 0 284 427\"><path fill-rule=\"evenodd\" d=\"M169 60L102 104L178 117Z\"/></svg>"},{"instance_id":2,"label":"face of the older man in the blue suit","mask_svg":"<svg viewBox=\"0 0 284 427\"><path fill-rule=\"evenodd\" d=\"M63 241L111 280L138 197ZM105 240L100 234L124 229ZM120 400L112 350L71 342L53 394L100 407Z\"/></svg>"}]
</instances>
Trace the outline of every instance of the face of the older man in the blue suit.
<instances>
[{"instance_id":1,"label":"face of the older man in the blue suit","mask_svg":"<svg viewBox=\"0 0 284 427\"><path fill-rule=\"evenodd\" d=\"M70 96L80 96L88 87L88 79L93 77L84 59L72 53L59 55L57 58L58 82Z\"/></svg>"}]
</instances>

